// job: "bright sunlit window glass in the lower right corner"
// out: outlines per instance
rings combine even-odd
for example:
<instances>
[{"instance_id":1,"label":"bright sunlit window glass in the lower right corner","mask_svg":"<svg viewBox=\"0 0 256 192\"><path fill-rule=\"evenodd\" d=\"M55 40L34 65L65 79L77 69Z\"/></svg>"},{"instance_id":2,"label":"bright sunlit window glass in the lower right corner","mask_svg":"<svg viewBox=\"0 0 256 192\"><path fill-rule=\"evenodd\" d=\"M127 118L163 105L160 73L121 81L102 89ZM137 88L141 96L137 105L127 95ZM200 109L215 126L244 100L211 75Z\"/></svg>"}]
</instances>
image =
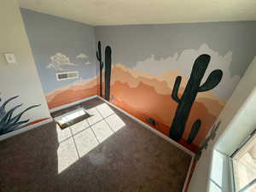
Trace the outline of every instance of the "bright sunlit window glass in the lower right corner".
<instances>
[{"instance_id":1,"label":"bright sunlit window glass in the lower right corner","mask_svg":"<svg viewBox=\"0 0 256 192\"><path fill-rule=\"evenodd\" d=\"M231 155L236 192L256 192L256 130Z\"/></svg>"}]
</instances>

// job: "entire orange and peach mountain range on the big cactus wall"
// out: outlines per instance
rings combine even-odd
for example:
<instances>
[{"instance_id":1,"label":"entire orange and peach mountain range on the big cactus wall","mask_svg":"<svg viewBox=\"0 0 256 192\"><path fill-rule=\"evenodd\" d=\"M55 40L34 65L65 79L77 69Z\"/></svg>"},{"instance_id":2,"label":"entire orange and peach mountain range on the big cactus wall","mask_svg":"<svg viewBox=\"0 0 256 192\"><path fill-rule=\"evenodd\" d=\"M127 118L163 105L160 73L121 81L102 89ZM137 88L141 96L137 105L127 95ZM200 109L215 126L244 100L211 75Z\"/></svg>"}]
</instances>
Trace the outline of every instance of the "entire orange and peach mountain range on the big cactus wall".
<instances>
[{"instance_id":1,"label":"entire orange and peach mountain range on the big cactus wall","mask_svg":"<svg viewBox=\"0 0 256 192\"><path fill-rule=\"evenodd\" d=\"M154 118L159 123L154 128L168 135L177 108L177 102L171 98L176 77L177 72L175 71L153 75L127 68L124 65L114 65L111 102L145 123L148 123L147 118ZM187 80L186 77L183 77L179 95L182 94ZM224 101L219 100L211 91L200 93L191 109L181 143L187 148L195 150L211 130L222 108L224 108ZM202 125L191 148L184 141L189 136L191 126L196 119L201 119Z\"/></svg>"}]
</instances>

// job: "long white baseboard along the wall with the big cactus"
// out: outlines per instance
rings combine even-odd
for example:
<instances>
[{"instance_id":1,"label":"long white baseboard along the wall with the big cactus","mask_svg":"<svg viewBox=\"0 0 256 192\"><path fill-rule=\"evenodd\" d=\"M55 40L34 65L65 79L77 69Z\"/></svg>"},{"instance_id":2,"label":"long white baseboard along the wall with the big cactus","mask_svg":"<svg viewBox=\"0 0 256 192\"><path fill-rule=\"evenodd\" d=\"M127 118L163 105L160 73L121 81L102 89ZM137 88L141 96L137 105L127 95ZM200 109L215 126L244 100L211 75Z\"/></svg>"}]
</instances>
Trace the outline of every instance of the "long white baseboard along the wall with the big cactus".
<instances>
[{"instance_id":1,"label":"long white baseboard along the wall with the big cactus","mask_svg":"<svg viewBox=\"0 0 256 192\"><path fill-rule=\"evenodd\" d=\"M186 152L187 154L189 154L191 157L194 157L195 154L190 151L188 148L184 148L181 144L173 141L170 137L166 137L164 134L162 134L160 131L155 130L154 128L152 128L151 126L149 126L148 124L145 124L142 120L137 119L136 117L134 117L133 115L131 115L130 113L125 112L123 109L115 106L113 103L108 102L107 100L103 99L101 96L97 96L99 99L101 99L103 102L107 102L109 105L111 105L113 108L118 109L120 112L125 113L127 116L129 116L131 119L134 119L135 121L137 121L137 123L139 123L140 125L143 125L144 127L146 127L148 130L153 131L155 134L157 134L158 136L164 138L166 141L168 141L169 143L172 143L173 145L175 145L177 148L182 149L184 152Z\"/></svg>"}]
</instances>

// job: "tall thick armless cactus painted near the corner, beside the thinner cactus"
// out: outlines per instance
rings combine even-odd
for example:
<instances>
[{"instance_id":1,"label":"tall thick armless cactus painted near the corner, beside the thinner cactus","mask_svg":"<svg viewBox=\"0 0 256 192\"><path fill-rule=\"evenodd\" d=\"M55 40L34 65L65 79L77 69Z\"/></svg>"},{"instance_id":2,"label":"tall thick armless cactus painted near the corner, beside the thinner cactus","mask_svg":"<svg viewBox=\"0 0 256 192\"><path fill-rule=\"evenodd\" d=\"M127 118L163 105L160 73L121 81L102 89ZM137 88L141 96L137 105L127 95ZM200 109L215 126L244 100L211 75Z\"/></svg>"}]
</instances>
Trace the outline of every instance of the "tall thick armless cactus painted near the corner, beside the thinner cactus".
<instances>
[{"instance_id":1,"label":"tall thick armless cactus painted near the corner, beside the thinner cactus","mask_svg":"<svg viewBox=\"0 0 256 192\"><path fill-rule=\"evenodd\" d=\"M111 48L105 49L105 99L109 101L110 94L110 77L111 77Z\"/></svg>"}]
</instances>

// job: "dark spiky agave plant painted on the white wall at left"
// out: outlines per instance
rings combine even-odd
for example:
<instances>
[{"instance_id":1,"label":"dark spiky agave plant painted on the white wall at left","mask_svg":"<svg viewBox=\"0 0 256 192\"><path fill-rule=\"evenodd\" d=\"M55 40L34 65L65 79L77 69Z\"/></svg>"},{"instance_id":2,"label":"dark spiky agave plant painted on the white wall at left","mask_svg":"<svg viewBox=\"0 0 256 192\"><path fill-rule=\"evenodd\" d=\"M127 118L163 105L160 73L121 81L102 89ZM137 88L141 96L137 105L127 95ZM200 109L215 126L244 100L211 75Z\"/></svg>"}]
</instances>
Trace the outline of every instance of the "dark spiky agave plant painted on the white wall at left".
<instances>
[{"instance_id":1,"label":"dark spiky agave plant painted on the white wall at left","mask_svg":"<svg viewBox=\"0 0 256 192\"><path fill-rule=\"evenodd\" d=\"M32 105L29 108L26 108L25 110L23 110L22 112L16 114L15 116L13 116L13 113L15 112L15 110L17 108L20 108L22 106L22 104L15 106L15 108L11 108L9 109L9 111L5 110L5 106L12 100L14 100L15 98L17 98L18 96L14 96L9 98L9 100L7 100L6 102L3 102L2 106L0 107L0 135L3 135L5 133L8 133L10 131L15 131L18 130L20 128L21 125L26 124L30 119L26 119L26 120L20 120L21 116L28 110L32 109L32 108L37 108L40 105ZM1 98L0 98L0 102L1 102Z\"/></svg>"}]
</instances>

